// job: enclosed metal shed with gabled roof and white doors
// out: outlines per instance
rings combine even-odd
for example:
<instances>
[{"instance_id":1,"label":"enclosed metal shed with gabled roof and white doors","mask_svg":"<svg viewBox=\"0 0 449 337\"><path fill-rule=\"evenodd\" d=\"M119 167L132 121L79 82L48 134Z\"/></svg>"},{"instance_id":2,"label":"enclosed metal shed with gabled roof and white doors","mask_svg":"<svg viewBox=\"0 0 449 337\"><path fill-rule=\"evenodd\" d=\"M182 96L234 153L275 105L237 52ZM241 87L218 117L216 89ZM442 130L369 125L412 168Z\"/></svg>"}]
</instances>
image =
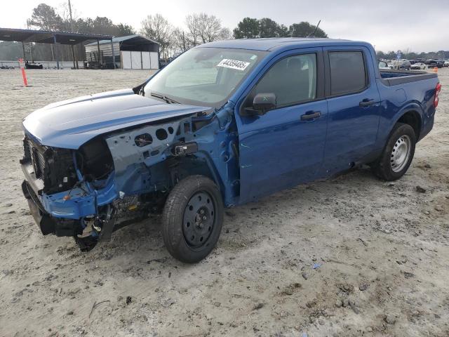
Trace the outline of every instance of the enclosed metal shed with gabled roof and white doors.
<instances>
[{"instance_id":1,"label":"enclosed metal shed with gabled roof and white doors","mask_svg":"<svg viewBox=\"0 0 449 337\"><path fill-rule=\"evenodd\" d=\"M86 44L86 60L96 67L159 69L159 44L138 34ZM113 54L114 51L114 60Z\"/></svg>"}]
</instances>

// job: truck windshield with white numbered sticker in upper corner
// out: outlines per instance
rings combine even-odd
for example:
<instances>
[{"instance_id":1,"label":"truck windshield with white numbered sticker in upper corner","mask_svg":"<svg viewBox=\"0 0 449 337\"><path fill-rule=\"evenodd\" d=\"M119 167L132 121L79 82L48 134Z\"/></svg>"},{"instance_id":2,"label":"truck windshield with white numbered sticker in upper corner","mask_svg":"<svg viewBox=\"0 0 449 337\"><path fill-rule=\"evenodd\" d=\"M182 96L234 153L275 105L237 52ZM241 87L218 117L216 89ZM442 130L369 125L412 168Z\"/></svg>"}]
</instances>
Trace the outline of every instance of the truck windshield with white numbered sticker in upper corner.
<instances>
[{"instance_id":1,"label":"truck windshield with white numbered sticker in upper corner","mask_svg":"<svg viewBox=\"0 0 449 337\"><path fill-rule=\"evenodd\" d=\"M266 53L230 48L190 49L150 79L144 88L145 96L220 107Z\"/></svg>"}]
</instances>

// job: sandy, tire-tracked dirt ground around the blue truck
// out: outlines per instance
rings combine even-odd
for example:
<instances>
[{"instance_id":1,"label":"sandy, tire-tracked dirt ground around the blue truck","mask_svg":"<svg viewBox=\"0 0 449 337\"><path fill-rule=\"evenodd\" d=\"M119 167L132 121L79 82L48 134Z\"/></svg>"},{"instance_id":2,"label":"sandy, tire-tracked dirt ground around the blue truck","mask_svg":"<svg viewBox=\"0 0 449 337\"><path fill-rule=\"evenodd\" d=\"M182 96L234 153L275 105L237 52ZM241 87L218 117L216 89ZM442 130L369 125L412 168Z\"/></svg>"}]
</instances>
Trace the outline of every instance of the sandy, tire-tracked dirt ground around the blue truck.
<instances>
[{"instance_id":1,"label":"sandy, tire-tracked dirt ground around the blue truck","mask_svg":"<svg viewBox=\"0 0 449 337\"><path fill-rule=\"evenodd\" d=\"M90 253L40 234L20 191L21 119L147 72L28 74L22 88L0 70L1 336L449 336L449 69L401 180L358 169L229 209L196 265L169 256L158 219Z\"/></svg>"}]
</instances>

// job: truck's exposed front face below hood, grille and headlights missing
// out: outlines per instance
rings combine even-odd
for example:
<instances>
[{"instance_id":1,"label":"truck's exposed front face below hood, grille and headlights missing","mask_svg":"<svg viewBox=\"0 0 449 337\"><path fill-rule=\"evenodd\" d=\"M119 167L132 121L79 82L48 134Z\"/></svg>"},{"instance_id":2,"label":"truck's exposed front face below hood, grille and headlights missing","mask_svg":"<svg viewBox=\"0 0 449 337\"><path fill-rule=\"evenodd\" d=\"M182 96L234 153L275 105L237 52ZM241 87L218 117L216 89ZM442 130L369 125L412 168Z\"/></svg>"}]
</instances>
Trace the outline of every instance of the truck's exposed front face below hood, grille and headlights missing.
<instances>
[{"instance_id":1,"label":"truck's exposed front face below hood, grille and headlights missing","mask_svg":"<svg viewBox=\"0 0 449 337\"><path fill-rule=\"evenodd\" d=\"M40 145L25 133L22 191L42 234L75 237L82 250L98 241L116 199L114 166L104 140L79 150Z\"/></svg>"}]
</instances>

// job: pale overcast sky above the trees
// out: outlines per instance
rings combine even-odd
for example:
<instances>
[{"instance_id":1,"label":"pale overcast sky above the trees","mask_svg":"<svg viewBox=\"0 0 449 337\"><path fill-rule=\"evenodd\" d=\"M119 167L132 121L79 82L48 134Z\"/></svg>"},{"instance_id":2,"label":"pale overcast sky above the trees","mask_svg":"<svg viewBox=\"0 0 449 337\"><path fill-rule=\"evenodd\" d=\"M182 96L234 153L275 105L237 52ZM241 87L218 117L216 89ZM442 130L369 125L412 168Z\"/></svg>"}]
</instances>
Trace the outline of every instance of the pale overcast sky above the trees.
<instances>
[{"instance_id":1,"label":"pale overcast sky above the trees","mask_svg":"<svg viewBox=\"0 0 449 337\"><path fill-rule=\"evenodd\" d=\"M0 27L25 28L39 3L58 8L65 1L2 1ZM449 0L72 0L72 7L80 17L107 16L137 30L146 15L155 13L183 27L185 15L205 12L230 29L246 16L272 18L286 26L321 19L320 27L329 37L368 41L381 51L449 50Z\"/></svg>"}]
</instances>

